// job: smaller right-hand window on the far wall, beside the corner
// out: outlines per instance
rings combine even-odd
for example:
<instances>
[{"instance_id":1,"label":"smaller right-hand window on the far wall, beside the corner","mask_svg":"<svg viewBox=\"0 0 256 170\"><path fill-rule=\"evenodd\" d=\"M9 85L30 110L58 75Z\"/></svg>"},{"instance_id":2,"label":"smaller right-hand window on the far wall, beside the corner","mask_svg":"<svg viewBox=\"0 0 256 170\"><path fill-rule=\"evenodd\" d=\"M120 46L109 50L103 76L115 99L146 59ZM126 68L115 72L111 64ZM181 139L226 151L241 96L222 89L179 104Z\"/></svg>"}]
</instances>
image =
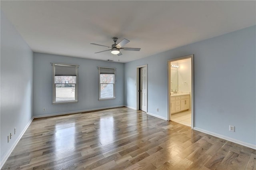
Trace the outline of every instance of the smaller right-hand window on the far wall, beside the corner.
<instances>
[{"instance_id":1,"label":"smaller right-hand window on the far wall, beside the corner","mask_svg":"<svg viewBox=\"0 0 256 170\"><path fill-rule=\"evenodd\" d=\"M115 99L115 68L98 67L99 69L99 100Z\"/></svg>"}]
</instances>

